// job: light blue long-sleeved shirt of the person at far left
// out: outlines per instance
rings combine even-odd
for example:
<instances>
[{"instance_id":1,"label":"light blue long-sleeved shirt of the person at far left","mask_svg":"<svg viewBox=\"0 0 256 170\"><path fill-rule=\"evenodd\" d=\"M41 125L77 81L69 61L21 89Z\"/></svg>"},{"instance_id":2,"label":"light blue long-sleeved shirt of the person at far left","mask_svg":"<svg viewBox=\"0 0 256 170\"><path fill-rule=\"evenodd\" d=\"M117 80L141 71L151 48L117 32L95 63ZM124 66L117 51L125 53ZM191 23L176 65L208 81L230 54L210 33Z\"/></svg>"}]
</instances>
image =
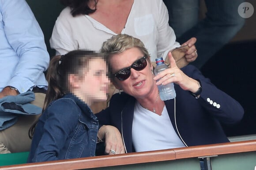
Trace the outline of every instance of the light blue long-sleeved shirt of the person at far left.
<instances>
[{"instance_id":1,"label":"light blue long-sleeved shirt of the person at far left","mask_svg":"<svg viewBox=\"0 0 256 170\"><path fill-rule=\"evenodd\" d=\"M26 1L0 0L0 91L46 88L48 65L44 35Z\"/></svg>"}]
</instances>

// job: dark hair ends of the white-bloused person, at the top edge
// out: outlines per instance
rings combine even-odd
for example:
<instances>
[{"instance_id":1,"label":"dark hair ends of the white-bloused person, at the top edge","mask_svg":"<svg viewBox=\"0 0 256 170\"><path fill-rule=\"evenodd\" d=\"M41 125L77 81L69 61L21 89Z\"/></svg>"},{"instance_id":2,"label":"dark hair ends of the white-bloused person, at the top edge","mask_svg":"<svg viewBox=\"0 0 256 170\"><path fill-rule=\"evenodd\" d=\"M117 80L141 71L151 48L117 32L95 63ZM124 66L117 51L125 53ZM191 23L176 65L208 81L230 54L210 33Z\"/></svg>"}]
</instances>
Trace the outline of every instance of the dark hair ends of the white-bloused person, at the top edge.
<instances>
[{"instance_id":1,"label":"dark hair ends of the white-bloused person, at the top edge","mask_svg":"<svg viewBox=\"0 0 256 170\"><path fill-rule=\"evenodd\" d=\"M64 6L71 8L71 14L73 17L79 14L92 14L96 11L98 0L94 0L95 8L89 7L90 0L60 0L60 3Z\"/></svg>"}]
</instances>

